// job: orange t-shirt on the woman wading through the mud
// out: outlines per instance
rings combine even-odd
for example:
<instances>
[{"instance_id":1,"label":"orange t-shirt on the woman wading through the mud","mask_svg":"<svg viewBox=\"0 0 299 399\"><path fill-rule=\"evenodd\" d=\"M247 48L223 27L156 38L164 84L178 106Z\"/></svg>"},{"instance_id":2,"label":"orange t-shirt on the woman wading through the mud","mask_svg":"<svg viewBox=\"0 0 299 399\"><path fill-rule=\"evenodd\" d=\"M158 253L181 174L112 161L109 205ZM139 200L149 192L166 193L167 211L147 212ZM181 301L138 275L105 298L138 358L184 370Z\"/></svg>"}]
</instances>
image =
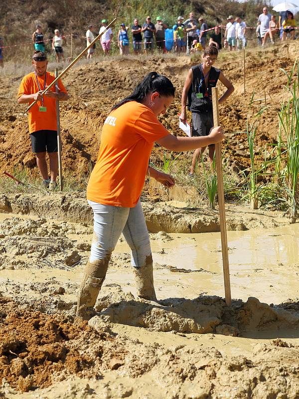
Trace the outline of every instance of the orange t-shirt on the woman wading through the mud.
<instances>
[{"instance_id":1,"label":"orange t-shirt on the woman wading through the mud","mask_svg":"<svg viewBox=\"0 0 299 399\"><path fill-rule=\"evenodd\" d=\"M137 101L112 111L103 125L87 199L134 207L145 183L153 143L168 134L153 112Z\"/></svg>"}]
</instances>

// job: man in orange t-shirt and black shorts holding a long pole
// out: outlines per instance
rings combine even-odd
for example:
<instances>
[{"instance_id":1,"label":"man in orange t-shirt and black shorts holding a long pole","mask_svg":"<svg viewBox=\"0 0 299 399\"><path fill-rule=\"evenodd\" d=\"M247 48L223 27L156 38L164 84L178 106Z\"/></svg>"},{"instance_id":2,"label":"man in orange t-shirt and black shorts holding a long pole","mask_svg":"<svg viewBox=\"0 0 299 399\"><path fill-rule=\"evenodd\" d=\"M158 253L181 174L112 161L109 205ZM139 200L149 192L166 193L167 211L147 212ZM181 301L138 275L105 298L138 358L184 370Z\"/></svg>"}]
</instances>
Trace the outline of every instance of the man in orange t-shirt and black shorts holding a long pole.
<instances>
[{"instance_id":1,"label":"man in orange t-shirt and black shorts holding a long pole","mask_svg":"<svg viewBox=\"0 0 299 399\"><path fill-rule=\"evenodd\" d=\"M58 147L57 147L57 118L56 100L65 101L68 94L62 82L58 80L58 90L52 86L44 95L42 91L55 79L54 74L47 72L47 57L41 51L35 51L32 57L34 72L24 76L17 101L19 104L31 104L37 101L28 112L29 133L32 152L36 155L36 164L43 179L43 185L54 190L58 174ZM50 179L46 162L46 153L49 156Z\"/></svg>"}]
</instances>

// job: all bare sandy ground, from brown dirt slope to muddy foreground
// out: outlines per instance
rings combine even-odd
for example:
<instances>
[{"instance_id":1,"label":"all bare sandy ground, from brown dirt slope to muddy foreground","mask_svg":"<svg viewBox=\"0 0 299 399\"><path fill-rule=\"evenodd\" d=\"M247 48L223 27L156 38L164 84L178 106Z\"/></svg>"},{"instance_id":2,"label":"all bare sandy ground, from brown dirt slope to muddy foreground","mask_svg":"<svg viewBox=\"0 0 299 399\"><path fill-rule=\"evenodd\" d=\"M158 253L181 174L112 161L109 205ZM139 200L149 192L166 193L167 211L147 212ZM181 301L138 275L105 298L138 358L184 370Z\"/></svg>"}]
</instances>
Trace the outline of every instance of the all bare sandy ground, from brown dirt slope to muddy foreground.
<instances>
[{"instance_id":1,"label":"all bare sandy ground, from brown dirt slope to muddy foreground","mask_svg":"<svg viewBox=\"0 0 299 399\"><path fill-rule=\"evenodd\" d=\"M286 83L280 68L291 69L296 45L247 51L245 98L242 53L219 57L217 66L235 86L220 107L234 171L249 162L240 132L254 88L258 98L264 89L268 96L257 158L277 138L275 110ZM70 93L61 104L64 171L90 169L111 106L150 70L177 87L161 121L180 134L177 112L191 65L171 56L78 64L63 79ZM34 174L25 106L16 103L23 72L15 67L0 76L0 171L25 165ZM155 147L151 161L162 157ZM74 320L92 239L84 194L0 194L0 398L299 398L299 224L279 212L226 204L233 298L227 307L218 210L189 207L189 194L175 190L149 187L146 198L160 202L143 203L158 302L137 297L121 238L88 323Z\"/></svg>"}]
</instances>

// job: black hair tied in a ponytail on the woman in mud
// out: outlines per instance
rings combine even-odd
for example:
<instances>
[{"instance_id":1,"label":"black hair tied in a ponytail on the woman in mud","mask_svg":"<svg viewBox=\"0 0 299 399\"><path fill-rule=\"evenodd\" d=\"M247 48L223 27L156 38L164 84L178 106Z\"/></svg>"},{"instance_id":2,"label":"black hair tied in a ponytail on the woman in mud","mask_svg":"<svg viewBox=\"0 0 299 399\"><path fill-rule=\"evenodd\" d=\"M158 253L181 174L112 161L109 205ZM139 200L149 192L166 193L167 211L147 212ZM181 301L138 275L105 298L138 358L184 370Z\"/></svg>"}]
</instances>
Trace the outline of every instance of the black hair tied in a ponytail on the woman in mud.
<instances>
[{"instance_id":1,"label":"black hair tied in a ponytail on the woman in mud","mask_svg":"<svg viewBox=\"0 0 299 399\"><path fill-rule=\"evenodd\" d=\"M121 102L112 107L112 111L129 101L141 103L146 96L156 91L161 96L174 97L175 88L171 81L164 75L157 72L150 72L134 89L130 96L124 98Z\"/></svg>"}]
</instances>

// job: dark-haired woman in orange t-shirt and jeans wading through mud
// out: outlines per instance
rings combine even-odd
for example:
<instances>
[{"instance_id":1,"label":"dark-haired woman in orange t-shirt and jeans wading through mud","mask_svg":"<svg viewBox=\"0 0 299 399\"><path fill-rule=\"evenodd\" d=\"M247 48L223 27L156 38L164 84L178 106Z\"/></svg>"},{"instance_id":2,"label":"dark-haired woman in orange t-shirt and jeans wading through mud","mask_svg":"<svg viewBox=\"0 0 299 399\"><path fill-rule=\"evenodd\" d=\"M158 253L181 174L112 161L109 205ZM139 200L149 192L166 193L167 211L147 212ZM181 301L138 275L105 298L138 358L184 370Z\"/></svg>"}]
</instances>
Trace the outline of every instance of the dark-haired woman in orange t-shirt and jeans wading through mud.
<instances>
[{"instance_id":1,"label":"dark-haired woman in orange t-shirt and jeans wading through mud","mask_svg":"<svg viewBox=\"0 0 299 399\"><path fill-rule=\"evenodd\" d=\"M115 245L123 233L131 248L138 295L156 300L149 233L140 195L146 176L166 187L171 176L149 166L153 143L172 151L188 151L223 140L221 127L209 136L175 137L158 121L174 98L171 81L150 72L134 92L115 105L101 134L97 163L87 186L94 212L94 239L78 295L77 317L88 320L106 276Z\"/></svg>"}]
</instances>

